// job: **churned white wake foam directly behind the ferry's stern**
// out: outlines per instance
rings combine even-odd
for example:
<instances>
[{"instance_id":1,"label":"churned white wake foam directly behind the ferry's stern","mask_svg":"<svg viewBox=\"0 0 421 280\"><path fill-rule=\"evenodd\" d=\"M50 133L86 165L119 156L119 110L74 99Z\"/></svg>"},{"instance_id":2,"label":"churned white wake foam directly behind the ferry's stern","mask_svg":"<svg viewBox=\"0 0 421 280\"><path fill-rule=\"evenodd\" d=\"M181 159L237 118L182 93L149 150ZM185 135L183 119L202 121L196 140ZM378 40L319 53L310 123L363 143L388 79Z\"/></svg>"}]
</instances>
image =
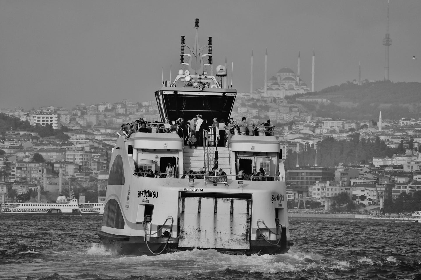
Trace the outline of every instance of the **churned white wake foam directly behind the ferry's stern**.
<instances>
[{"instance_id":1,"label":"churned white wake foam directly behind the ferry's stern","mask_svg":"<svg viewBox=\"0 0 421 280\"><path fill-rule=\"evenodd\" d=\"M347 261L314 252L294 252L279 255L230 255L214 249L179 251L158 256L114 256L112 262L139 265L142 267L171 267L180 271L218 272L227 270L248 273L299 272L302 269L331 270L349 269Z\"/></svg>"}]
</instances>

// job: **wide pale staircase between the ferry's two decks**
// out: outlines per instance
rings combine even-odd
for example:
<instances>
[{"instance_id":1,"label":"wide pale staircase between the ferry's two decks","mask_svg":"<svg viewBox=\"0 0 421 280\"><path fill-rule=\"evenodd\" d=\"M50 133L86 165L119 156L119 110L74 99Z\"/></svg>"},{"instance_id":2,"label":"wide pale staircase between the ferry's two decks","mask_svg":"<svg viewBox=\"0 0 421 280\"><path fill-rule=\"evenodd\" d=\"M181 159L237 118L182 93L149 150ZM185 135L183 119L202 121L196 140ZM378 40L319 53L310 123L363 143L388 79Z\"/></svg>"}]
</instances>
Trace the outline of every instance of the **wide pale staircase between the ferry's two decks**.
<instances>
[{"instance_id":1,"label":"wide pale staircase between the ferry's two decks","mask_svg":"<svg viewBox=\"0 0 421 280\"><path fill-rule=\"evenodd\" d=\"M205 164L208 164L209 157L209 166L206 169L206 173L212 170L212 167L215 164L215 147L205 147L205 152L209 151L206 155L206 158L203 158L203 147L197 147L197 149L189 149L189 147L184 147L184 171L199 171L200 168L204 168ZM218 170L222 168L224 172L229 175L229 151L226 147L218 147ZM206 161L206 163L205 163ZM231 170L231 172L233 172Z\"/></svg>"}]
</instances>

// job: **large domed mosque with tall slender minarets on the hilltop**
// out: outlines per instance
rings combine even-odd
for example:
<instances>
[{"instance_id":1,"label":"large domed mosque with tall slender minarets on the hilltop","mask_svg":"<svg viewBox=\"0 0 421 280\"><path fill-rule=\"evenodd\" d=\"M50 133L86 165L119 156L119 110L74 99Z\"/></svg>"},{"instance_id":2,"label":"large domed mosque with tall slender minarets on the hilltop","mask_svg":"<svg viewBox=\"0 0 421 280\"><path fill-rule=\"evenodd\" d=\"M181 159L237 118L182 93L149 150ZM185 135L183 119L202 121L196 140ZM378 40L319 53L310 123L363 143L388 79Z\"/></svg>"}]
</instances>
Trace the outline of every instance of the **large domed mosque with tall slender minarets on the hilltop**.
<instances>
[{"instance_id":1,"label":"large domed mosque with tall slender minarets on the hilltop","mask_svg":"<svg viewBox=\"0 0 421 280\"><path fill-rule=\"evenodd\" d=\"M310 91L310 87L300 78L300 53L298 52L297 74L290 68L284 67L280 69L272 78L266 79L267 72L267 52L265 58L265 85L250 95L260 95L261 97L277 97L285 98L285 96L296 95L298 93L306 93ZM253 61L252 61L253 63ZM312 91L314 91L314 50L312 63ZM253 71L253 70L252 70ZM253 76L252 76L253 77Z\"/></svg>"}]
</instances>

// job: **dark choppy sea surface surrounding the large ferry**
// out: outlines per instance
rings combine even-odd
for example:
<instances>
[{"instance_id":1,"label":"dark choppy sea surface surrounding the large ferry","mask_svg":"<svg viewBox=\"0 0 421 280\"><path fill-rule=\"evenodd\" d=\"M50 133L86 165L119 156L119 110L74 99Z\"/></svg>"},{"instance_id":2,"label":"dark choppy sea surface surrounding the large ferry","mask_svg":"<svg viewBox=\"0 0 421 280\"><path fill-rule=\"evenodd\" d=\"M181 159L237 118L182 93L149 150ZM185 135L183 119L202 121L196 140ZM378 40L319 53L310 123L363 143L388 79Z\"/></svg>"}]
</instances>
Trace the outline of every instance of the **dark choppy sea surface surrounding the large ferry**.
<instances>
[{"instance_id":1,"label":"dark choppy sea surface surrounding the large ferry","mask_svg":"<svg viewBox=\"0 0 421 280\"><path fill-rule=\"evenodd\" d=\"M288 254L193 250L116 256L96 235L102 216L0 214L0 279L421 280L421 224L290 218Z\"/></svg>"}]
</instances>

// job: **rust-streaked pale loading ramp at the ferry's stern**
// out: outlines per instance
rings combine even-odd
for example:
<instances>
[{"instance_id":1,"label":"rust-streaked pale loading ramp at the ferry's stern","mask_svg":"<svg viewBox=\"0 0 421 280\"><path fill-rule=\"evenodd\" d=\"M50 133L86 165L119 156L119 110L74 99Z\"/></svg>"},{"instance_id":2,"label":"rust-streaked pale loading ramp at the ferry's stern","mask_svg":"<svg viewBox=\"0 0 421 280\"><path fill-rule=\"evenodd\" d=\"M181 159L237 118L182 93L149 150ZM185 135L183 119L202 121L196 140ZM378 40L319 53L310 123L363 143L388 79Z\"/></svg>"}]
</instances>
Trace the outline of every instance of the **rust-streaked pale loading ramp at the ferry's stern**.
<instances>
[{"instance_id":1,"label":"rust-streaked pale loading ramp at the ferry's stern","mask_svg":"<svg viewBox=\"0 0 421 280\"><path fill-rule=\"evenodd\" d=\"M179 193L179 248L250 249L252 194Z\"/></svg>"}]
</instances>

